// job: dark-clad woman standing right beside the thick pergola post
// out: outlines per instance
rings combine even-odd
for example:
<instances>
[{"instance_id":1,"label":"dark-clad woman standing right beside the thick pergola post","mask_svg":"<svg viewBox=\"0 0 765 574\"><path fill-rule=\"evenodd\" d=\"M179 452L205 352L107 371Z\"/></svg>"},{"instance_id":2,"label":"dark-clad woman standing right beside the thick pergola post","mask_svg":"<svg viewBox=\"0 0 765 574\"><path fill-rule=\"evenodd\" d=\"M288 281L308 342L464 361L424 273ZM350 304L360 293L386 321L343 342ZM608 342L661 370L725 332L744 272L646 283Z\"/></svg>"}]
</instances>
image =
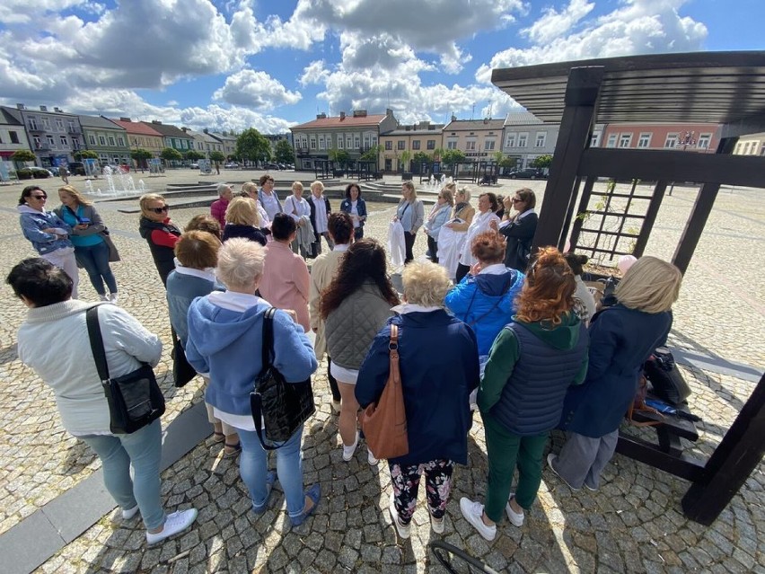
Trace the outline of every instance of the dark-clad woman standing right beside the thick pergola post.
<instances>
[{"instance_id":1,"label":"dark-clad woman standing right beside the thick pergola post","mask_svg":"<svg viewBox=\"0 0 765 574\"><path fill-rule=\"evenodd\" d=\"M534 211L537 199L532 190L522 188L512 196L506 197L503 203L505 215L502 216L502 222L492 225L491 228L498 230L507 239L505 265L525 272L529 266L532 241L539 222L539 216ZM512 208L517 212L514 216L509 215Z\"/></svg>"}]
</instances>

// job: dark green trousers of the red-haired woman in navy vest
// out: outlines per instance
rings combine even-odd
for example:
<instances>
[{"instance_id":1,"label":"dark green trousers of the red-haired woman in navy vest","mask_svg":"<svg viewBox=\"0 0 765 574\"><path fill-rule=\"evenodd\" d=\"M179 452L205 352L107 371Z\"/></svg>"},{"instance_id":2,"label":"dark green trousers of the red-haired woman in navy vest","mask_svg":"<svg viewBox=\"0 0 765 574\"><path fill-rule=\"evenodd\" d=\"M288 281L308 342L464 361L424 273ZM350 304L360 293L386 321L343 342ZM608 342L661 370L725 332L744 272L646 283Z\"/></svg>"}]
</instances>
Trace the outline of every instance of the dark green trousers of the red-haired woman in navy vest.
<instances>
[{"instance_id":1,"label":"dark green trousers of the red-haired woman in navy vest","mask_svg":"<svg viewBox=\"0 0 765 574\"><path fill-rule=\"evenodd\" d=\"M509 432L490 414L482 415L482 418L488 455L488 488L484 510L487 517L500 522L505 515L516 465L518 484L515 488L515 501L522 508L532 507L540 489L542 454L550 433L520 437Z\"/></svg>"}]
</instances>

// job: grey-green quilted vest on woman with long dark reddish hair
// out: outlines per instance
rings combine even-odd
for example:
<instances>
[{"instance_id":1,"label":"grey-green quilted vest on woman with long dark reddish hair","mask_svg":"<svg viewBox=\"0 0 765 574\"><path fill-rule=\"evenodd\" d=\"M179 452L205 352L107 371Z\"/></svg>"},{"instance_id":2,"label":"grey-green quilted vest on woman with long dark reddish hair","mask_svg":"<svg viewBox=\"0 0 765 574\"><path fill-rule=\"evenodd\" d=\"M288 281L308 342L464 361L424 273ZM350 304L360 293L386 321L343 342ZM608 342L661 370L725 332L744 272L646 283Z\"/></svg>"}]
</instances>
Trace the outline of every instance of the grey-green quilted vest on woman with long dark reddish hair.
<instances>
[{"instance_id":1,"label":"grey-green quilted vest on woman with long dark reddish hair","mask_svg":"<svg viewBox=\"0 0 765 574\"><path fill-rule=\"evenodd\" d=\"M332 362L347 369L361 368L374 336L392 316L391 304L382 298L377 286L365 282L328 315L324 324Z\"/></svg>"}]
</instances>

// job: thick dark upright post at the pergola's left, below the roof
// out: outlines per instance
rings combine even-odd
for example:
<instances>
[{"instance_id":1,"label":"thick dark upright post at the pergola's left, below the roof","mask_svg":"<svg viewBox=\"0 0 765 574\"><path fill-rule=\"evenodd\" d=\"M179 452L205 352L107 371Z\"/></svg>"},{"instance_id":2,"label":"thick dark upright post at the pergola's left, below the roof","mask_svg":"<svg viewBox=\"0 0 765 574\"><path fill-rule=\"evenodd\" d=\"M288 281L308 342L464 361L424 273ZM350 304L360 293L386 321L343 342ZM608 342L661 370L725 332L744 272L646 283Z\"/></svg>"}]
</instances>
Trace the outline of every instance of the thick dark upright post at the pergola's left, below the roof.
<instances>
[{"instance_id":1,"label":"thick dark upright post at the pergola's left, below the roof","mask_svg":"<svg viewBox=\"0 0 765 574\"><path fill-rule=\"evenodd\" d=\"M601 90L602 66L574 67L568 75L566 107L560 122L555 155L550 165L550 179L544 192L533 247L556 245L563 249L566 242L566 221L579 160L589 145L594 126L595 106Z\"/></svg>"}]
</instances>

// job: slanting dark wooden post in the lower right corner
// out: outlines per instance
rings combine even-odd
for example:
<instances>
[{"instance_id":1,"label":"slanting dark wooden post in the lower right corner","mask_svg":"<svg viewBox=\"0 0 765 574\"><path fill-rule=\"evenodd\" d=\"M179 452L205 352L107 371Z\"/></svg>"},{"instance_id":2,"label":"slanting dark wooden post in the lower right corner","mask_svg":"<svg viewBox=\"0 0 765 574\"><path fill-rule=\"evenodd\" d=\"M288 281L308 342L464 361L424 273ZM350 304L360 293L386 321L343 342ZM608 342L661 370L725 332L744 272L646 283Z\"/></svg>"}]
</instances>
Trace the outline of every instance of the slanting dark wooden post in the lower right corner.
<instances>
[{"instance_id":1,"label":"slanting dark wooden post in the lower right corner","mask_svg":"<svg viewBox=\"0 0 765 574\"><path fill-rule=\"evenodd\" d=\"M758 467L765 455L765 375L725 433L695 481L682 497L686 517L711 525Z\"/></svg>"}]
</instances>

